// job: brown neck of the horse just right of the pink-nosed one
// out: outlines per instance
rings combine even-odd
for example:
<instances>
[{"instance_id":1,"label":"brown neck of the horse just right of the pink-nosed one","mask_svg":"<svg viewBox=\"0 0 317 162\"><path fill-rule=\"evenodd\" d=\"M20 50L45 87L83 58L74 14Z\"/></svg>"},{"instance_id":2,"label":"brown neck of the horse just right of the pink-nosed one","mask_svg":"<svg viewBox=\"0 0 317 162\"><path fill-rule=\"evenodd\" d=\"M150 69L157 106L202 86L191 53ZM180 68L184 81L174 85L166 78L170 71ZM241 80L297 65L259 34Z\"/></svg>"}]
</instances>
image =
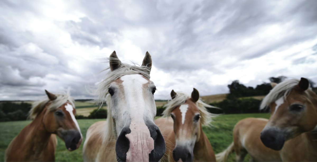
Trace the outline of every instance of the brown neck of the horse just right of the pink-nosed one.
<instances>
[{"instance_id":1,"label":"brown neck of the horse just right of the pink-nosed one","mask_svg":"<svg viewBox=\"0 0 317 162\"><path fill-rule=\"evenodd\" d=\"M210 142L200 126L200 137L194 146L194 161L215 160L214 154Z\"/></svg>"}]
</instances>

